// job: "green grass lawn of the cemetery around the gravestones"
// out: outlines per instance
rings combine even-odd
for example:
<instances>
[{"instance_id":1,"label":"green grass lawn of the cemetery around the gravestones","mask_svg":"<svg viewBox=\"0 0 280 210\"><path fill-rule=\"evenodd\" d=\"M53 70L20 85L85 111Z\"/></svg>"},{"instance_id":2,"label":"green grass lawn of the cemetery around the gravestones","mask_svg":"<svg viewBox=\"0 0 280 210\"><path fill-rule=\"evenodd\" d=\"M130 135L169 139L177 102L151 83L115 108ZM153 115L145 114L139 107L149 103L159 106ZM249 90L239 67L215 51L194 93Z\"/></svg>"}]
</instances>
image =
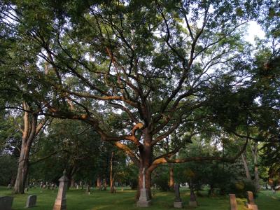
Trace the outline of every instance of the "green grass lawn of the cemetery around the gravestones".
<instances>
[{"instance_id":1,"label":"green grass lawn of the cemetery around the gravestones","mask_svg":"<svg viewBox=\"0 0 280 210\"><path fill-rule=\"evenodd\" d=\"M143 209L137 208L134 195L135 190L117 190L116 194L109 193L107 191L93 190L92 195L87 195L85 190L67 191L67 210L121 210L121 209ZM207 193L204 191L203 193ZM174 193L171 192L153 192L153 206L146 209L174 209L173 200ZM11 190L7 190L6 187L0 187L0 195L12 195ZM25 209L25 202L28 195L37 195L37 207L32 209L50 210L55 202L57 190L41 190L41 189L29 189L25 195L12 195L14 197L13 210ZM188 190L181 189L181 198L183 200L184 209L194 209L188 207L188 201L190 199L190 193ZM244 202L246 199L237 199L238 209L246 209ZM199 207L196 210L227 210L229 209L228 197L197 197ZM261 191L258 194L258 198L255 200L260 210L279 210L280 209L280 193L273 194L270 191ZM144 208L145 209L145 208Z\"/></svg>"}]
</instances>

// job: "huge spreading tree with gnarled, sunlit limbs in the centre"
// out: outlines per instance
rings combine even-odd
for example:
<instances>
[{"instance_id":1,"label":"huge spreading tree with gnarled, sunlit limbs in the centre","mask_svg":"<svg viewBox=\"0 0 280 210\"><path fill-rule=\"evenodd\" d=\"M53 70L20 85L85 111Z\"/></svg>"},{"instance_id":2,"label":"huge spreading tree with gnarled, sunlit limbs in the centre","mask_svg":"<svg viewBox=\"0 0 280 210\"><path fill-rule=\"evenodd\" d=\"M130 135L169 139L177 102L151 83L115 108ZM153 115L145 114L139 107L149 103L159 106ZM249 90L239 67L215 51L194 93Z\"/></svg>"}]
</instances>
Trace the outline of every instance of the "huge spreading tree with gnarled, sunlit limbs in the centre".
<instances>
[{"instance_id":1,"label":"huge spreading tree with gnarled, sunlit limbs in the centre","mask_svg":"<svg viewBox=\"0 0 280 210\"><path fill-rule=\"evenodd\" d=\"M260 2L6 1L1 17L37 57L35 68L21 69L35 86L23 96L43 115L91 125L139 166L139 186L146 170L150 190L162 163L231 162L241 154L172 158L211 125L212 89L246 87L250 48L242 27ZM165 153L162 141L175 131L184 135Z\"/></svg>"}]
</instances>

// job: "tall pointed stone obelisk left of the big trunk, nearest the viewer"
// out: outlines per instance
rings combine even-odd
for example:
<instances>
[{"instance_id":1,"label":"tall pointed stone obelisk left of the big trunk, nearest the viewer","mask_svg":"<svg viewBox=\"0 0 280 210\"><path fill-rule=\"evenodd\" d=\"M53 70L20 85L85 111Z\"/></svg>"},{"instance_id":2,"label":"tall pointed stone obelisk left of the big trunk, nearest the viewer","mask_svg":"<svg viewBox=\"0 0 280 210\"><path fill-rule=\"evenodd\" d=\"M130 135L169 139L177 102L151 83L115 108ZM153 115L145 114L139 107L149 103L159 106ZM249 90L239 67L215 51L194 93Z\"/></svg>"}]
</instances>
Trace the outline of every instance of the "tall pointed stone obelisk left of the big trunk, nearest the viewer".
<instances>
[{"instance_id":1,"label":"tall pointed stone obelisk left of the big trunk, nearest the viewer","mask_svg":"<svg viewBox=\"0 0 280 210\"><path fill-rule=\"evenodd\" d=\"M57 192L57 199L52 210L66 210L66 190L68 179L66 177L66 170L63 172L63 176L59 179L59 188Z\"/></svg>"}]
</instances>

